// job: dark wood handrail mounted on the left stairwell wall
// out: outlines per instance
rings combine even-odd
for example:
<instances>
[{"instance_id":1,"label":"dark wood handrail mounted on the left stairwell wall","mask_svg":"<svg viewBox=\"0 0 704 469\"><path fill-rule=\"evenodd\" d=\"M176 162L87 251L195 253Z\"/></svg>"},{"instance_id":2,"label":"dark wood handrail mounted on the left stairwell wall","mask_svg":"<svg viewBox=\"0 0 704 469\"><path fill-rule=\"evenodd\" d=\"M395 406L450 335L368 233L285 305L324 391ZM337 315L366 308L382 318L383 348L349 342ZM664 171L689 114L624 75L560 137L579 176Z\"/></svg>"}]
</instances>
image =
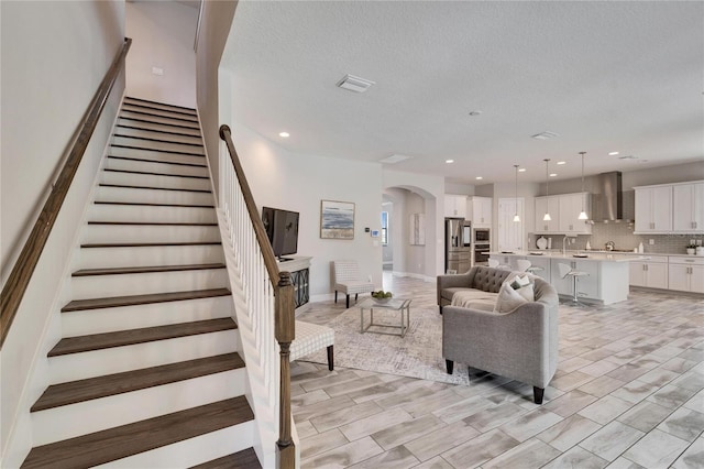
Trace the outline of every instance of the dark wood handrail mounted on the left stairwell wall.
<instances>
[{"instance_id":1,"label":"dark wood handrail mounted on the left stairwell wall","mask_svg":"<svg viewBox=\"0 0 704 469\"><path fill-rule=\"evenodd\" d=\"M0 348L2 348L10 326L12 326L24 292L32 279L32 274L42 255L46 240L52 232L54 222L58 217L58 212L64 204L68 188L74 181L76 171L78 171L80 161L86 153L86 148L90 142L92 132L96 130L100 114L106 107L112 86L124 66L124 57L131 44L132 40L125 37L124 44L120 47L114 61L112 61L112 65L108 69L108 73L106 73L96 95L90 101L84 119L78 124L79 130L77 130L77 137L68 151L68 157L2 288L2 297L0 298Z\"/></svg>"}]
</instances>

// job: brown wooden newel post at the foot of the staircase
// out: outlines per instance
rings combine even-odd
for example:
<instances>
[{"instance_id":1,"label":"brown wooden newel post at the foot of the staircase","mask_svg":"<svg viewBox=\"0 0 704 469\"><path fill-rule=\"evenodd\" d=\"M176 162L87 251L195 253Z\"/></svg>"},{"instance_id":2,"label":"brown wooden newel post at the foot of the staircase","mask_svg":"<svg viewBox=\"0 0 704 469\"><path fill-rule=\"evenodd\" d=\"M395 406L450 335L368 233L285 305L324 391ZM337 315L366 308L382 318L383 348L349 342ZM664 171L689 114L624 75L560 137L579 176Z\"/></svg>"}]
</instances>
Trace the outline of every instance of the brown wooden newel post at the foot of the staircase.
<instances>
[{"instance_id":1,"label":"brown wooden newel post at the foot of the staircase","mask_svg":"<svg viewBox=\"0 0 704 469\"><path fill-rule=\"evenodd\" d=\"M274 334L280 347L279 438L276 445L278 446L278 467L283 469L293 469L296 466L296 447L290 434L290 342L296 337L295 309L290 273L280 272L274 299Z\"/></svg>"}]
</instances>

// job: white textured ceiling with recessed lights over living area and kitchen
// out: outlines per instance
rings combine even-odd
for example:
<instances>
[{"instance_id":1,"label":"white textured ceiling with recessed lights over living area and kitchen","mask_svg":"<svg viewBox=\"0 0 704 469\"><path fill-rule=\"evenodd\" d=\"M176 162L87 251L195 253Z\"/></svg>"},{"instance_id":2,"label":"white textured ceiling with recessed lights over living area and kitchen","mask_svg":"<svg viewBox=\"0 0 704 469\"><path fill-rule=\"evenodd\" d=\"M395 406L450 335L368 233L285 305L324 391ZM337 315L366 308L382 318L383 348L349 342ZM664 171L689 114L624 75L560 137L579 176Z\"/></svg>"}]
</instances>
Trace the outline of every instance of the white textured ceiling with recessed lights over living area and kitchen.
<instances>
[{"instance_id":1,"label":"white textured ceiling with recessed lights over living area and kitchen","mask_svg":"<svg viewBox=\"0 0 704 469\"><path fill-rule=\"evenodd\" d=\"M469 184L704 164L702 1L241 0L230 41L235 119L292 152Z\"/></svg>"}]
</instances>

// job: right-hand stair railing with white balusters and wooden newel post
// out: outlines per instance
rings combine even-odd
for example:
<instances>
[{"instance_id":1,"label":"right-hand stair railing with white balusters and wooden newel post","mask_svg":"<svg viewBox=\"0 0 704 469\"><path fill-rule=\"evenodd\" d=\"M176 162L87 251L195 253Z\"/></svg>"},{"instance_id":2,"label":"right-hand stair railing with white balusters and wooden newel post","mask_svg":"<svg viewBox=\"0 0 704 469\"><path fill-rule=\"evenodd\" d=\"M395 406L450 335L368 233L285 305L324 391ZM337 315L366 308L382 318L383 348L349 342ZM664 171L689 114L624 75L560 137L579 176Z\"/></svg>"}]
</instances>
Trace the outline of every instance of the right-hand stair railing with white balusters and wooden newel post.
<instances>
[{"instance_id":1,"label":"right-hand stair railing with white balusters and wooden newel post","mask_svg":"<svg viewBox=\"0 0 704 469\"><path fill-rule=\"evenodd\" d=\"M257 350L267 355L275 352L273 339L279 345L278 397L279 437L278 467L295 467L295 445L292 438L290 413L290 342L295 338L294 286L289 272L279 272L276 257L266 237L266 230L258 217L254 197L244 176L240 159L234 150L232 134L228 126L220 127L220 138L226 142L232 167L220 165L221 209L228 214L228 222L233 240L235 255L243 273L243 290L248 303L252 305L251 323L258 342ZM228 177L227 171L233 170L237 177ZM273 329L273 330L272 330ZM272 352L272 356L273 353ZM271 360L264 360L270 363ZM271 370L268 370L271 372ZM273 374L273 373L272 373ZM275 379L272 377L272 379Z\"/></svg>"}]
</instances>

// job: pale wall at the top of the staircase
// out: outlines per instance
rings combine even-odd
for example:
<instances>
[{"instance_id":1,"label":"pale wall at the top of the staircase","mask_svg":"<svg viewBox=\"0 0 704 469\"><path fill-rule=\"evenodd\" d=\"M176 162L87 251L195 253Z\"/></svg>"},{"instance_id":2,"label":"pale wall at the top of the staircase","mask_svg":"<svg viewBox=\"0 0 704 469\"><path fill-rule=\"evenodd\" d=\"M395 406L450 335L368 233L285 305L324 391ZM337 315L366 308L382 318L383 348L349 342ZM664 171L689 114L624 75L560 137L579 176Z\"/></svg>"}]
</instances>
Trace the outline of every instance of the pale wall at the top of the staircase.
<instances>
[{"instance_id":1,"label":"pale wall at the top of the staircase","mask_svg":"<svg viewBox=\"0 0 704 469\"><path fill-rule=\"evenodd\" d=\"M198 9L175 1L127 2L127 94L134 98L196 107ZM154 75L152 67L162 68Z\"/></svg>"}]
</instances>

